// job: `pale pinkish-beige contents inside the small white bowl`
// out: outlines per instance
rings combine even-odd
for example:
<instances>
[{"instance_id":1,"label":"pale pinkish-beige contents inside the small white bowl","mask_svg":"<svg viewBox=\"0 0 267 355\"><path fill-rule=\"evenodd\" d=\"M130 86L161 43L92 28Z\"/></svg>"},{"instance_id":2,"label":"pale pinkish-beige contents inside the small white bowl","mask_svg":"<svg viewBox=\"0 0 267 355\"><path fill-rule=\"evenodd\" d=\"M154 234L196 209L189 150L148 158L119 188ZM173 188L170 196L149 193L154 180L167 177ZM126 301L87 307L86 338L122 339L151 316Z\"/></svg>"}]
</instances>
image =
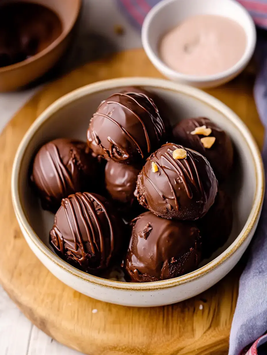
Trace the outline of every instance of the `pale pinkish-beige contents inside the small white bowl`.
<instances>
[{"instance_id":1,"label":"pale pinkish-beige contents inside the small white bowl","mask_svg":"<svg viewBox=\"0 0 267 355\"><path fill-rule=\"evenodd\" d=\"M246 33L239 23L223 16L197 15L164 35L159 54L171 69L202 76L229 69L245 48Z\"/></svg>"}]
</instances>

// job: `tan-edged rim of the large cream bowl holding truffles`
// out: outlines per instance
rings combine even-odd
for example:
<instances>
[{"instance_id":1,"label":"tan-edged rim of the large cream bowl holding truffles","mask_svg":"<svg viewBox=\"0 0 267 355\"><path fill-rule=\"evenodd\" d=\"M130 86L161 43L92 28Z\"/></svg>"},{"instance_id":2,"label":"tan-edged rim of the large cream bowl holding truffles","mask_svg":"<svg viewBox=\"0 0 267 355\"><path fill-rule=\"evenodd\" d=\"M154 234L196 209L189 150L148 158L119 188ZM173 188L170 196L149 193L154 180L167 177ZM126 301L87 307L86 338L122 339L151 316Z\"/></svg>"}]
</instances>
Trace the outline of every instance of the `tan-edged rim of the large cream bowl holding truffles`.
<instances>
[{"instance_id":1,"label":"tan-edged rim of the large cream bowl holding truffles","mask_svg":"<svg viewBox=\"0 0 267 355\"><path fill-rule=\"evenodd\" d=\"M20 201L20 192L19 192L19 181L20 181L20 169L21 163L24 157L24 153L26 148L33 138L35 132L41 128L41 126L47 120L51 119L51 116L59 111L65 105L82 98L84 96L93 94L95 92L106 91L112 88L120 88L123 86L149 86L154 88L166 89L169 91L174 91L178 93L183 93L190 97L193 97L196 100L199 100L206 105L209 105L212 109L217 110L221 113L230 124L235 126L240 135L243 135L245 138L244 141L247 144L247 147L250 149L253 159L253 168L255 169L256 176L256 192L254 196L254 201L252 205L251 212L247 221L240 231L240 234L236 237L233 243L218 257L216 257L211 262L202 266L201 268L185 274L183 276L169 279L169 280L161 280L155 282L147 282L147 283L127 283L127 282L119 282L114 280L103 279L97 276L90 275L83 271L79 271L73 266L69 265L65 261L63 261L59 256L53 253L43 241L41 241L38 235L34 232L30 223L27 220L26 214L23 211L22 204ZM17 149L16 156L13 163L12 168L12 177L11 177L11 195L12 195L12 203L15 211L16 218L20 227L22 229L23 234L26 234L27 242L32 242L35 247L39 249L41 253L44 254L45 257L49 258L54 264L63 269L65 272L72 274L79 279L82 279L86 282L92 283L94 285L102 286L108 289L120 289L120 290L130 290L130 291L155 291L159 289L171 288L180 284L188 283L190 280L198 279L200 277L204 277L208 272L216 269L224 262L226 262L245 242L247 237L249 237L251 231L254 226L258 222L258 218L260 217L260 212L263 203L263 196L265 191L265 175L263 169L263 162L261 159L260 150L252 137L247 126L244 122L225 104L223 104L218 99L212 97L211 95L201 91L200 89L193 88L190 86L186 86L179 83L174 83L168 80L156 79L156 78L146 78L146 77L128 77L128 78L115 78L105 81L95 82L93 84L86 85L84 87L78 88L63 97L56 100L52 103L48 108L46 108L43 113L39 115L39 117L33 122L33 124L29 127L28 131L22 138L22 141ZM62 271L63 271L62 270Z\"/></svg>"}]
</instances>

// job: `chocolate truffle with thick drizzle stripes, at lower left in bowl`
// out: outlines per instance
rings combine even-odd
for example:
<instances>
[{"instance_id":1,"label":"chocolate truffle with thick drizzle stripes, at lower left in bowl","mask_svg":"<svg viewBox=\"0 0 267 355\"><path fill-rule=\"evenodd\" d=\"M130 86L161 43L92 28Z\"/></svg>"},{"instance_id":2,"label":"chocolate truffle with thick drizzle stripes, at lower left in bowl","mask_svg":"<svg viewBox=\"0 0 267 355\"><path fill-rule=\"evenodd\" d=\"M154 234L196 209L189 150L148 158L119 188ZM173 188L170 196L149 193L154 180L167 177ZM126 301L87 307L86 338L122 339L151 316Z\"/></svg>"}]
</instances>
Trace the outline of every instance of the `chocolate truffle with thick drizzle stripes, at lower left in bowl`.
<instances>
[{"instance_id":1,"label":"chocolate truffle with thick drizzle stripes, at lower left in bowl","mask_svg":"<svg viewBox=\"0 0 267 355\"><path fill-rule=\"evenodd\" d=\"M102 196L77 192L63 198L50 231L50 243L67 262L83 271L105 269L121 253L124 225Z\"/></svg>"}]
</instances>

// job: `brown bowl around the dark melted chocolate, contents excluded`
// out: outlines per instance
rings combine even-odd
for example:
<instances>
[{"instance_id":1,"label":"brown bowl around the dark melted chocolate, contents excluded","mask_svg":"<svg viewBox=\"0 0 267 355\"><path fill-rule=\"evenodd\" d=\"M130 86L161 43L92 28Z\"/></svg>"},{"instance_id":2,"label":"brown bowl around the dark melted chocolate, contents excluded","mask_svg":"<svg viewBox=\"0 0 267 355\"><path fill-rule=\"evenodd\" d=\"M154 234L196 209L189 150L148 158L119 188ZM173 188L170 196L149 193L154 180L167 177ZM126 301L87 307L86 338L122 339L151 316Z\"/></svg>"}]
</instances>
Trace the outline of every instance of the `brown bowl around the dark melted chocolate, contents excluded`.
<instances>
[{"instance_id":1,"label":"brown bowl around the dark melted chocolate, contents excluded","mask_svg":"<svg viewBox=\"0 0 267 355\"><path fill-rule=\"evenodd\" d=\"M81 0L3 0L7 2L33 2L53 10L62 22L61 35L48 47L16 64L0 68L0 92L16 90L47 72L66 50L72 28L78 18Z\"/></svg>"}]
</instances>

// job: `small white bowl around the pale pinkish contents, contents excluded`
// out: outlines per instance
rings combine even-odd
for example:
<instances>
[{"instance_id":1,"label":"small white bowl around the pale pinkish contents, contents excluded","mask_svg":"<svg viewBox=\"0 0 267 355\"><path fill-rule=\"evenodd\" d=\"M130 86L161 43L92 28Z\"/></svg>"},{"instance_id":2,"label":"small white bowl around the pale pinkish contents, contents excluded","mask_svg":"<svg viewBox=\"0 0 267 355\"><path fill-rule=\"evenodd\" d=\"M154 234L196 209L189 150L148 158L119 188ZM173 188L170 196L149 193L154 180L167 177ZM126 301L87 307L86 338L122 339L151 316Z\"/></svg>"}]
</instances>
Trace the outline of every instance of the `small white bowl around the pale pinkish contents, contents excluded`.
<instances>
[{"instance_id":1,"label":"small white bowl around the pale pinkish contents, contents excluded","mask_svg":"<svg viewBox=\"0 0 267 355\"><path fill-rule=\"evenodd\" d=\"M218 74L196 76L179 73L160 59L158 46L162 36L186 18L195 15L220 15L243 27L247 37L246 49L234 66ZM152 64L167 78L196 87L214 87L233 79L248 64L256 45L256 28L246 9L233 0L162 0L145 18L142 43Z\"/></svg>"}]
</instances>

